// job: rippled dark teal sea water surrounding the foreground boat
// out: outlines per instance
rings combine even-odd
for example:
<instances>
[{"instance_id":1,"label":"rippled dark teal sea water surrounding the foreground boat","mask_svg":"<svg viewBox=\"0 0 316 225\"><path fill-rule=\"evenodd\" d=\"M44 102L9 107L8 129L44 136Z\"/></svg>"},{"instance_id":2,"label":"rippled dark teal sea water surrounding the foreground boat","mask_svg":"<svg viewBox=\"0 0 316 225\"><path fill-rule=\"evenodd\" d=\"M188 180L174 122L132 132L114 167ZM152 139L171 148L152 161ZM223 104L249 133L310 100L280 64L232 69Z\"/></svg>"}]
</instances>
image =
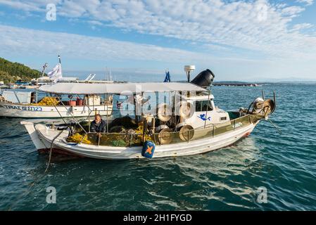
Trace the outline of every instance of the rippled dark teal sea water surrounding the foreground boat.
<instances>
[{"instance_id":1,"label":"rippled dark teal sea water surrounding the foreground boat","mask_svg":"<svg viewBox=\"0 0 316 225\"><path fill-rule=\"evenodd\" d=\"M0 118L0 210L316 210L316 86L213 87L225 110L277 91L272 121L234 146L158 160L54 160ZM57 203L46 203L54 186ZM257 202L259 187L267 203Z\"/></svg>"}]
</instances>

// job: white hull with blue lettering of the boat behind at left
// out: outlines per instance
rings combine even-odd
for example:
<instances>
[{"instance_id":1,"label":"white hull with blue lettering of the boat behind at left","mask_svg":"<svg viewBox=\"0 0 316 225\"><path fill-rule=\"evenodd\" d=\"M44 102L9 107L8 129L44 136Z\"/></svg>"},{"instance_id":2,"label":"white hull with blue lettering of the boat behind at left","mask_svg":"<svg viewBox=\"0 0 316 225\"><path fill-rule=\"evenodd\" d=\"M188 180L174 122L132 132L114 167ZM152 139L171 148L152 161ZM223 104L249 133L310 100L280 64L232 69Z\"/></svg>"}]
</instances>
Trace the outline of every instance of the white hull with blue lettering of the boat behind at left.
<instances>
[{"instance_id":1,"label":"white hull with blue lettering of the boat behind at left","mask_svg":"<svg viewBox=\"0 0 316 225\"><path fill-rule=\"evenodd\" d=\"M0 102L0 117L60 118L72 116L87 117L89 115L88 106L58 105L56 108L54 106L20 105ZM111 115L113 105L90 106L90 110L96 110L101 115Z\"/></svg>"}]
</instances>

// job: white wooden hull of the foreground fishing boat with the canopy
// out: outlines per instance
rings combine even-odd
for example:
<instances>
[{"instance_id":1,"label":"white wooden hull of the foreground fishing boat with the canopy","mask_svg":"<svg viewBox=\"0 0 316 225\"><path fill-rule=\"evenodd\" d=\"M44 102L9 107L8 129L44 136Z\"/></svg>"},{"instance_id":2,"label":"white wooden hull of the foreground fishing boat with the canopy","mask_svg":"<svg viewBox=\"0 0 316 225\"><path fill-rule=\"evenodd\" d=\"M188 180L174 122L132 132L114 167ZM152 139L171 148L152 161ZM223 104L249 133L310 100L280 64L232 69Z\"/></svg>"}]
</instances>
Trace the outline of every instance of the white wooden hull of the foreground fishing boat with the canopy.
<instances>
[{"instance_id":1,"label":"white wooden hull of the foreground fishing boat with the canopy","mask_svg":"<svg viewBox=\"0 0 316 225\"><path fill-rule=\"evenodd\" d=\"M29 132L37 150L49 150L51 142L60 131L50 129L44 124L32 124L32 122L23 122ZM244 136L251 134L255 128L254 124L248 124L239 127L225 134L210 136L196 141L173 143L168 145L156 146L153 158L176 157L182 155L196 155L207 153L225 146L232 145ZM144 158L141 156L141 146L137 147L113 147L113 146L94 146L87 144L71 144L65 141L68 131L63 131L58 138L53 141L53 149L62 150L65 153L78 155L87 158L96 158L103 160L125 160L133 158Z\"/></svg>"}]
</instances>

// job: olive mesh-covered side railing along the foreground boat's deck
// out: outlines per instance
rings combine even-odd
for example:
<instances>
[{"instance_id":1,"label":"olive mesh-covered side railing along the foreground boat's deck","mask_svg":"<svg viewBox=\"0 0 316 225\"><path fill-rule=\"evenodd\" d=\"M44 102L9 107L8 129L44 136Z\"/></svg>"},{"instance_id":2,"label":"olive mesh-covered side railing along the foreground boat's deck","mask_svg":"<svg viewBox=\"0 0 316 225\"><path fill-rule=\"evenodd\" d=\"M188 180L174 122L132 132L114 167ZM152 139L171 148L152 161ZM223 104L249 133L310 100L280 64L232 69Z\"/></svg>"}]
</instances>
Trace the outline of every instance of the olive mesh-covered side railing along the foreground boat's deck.
<instances>
[{"instance_id":1,"label":"olive mesh-covered side railing along the foreground boat's deck","mask_svg":"<svg viewBox=\"0 0 316 225\"><path fill-rule=\"evenodd\" d=\"M192 129L186 131L163 132L155 134L141 134L140 132L127 130L121 133L87 133L87 138L82 143L89 143L96 146L115 146L115 147L132 147L142 146L144 140L153 141L156 145L165 145L172 143L184 143L199 139L213 138L228 131L234 131L241 127L245 127L258 120L253 115L245 115L243 117L230 120L225 124L217 124L214 126Z\"/></svg>"}]
</instances>

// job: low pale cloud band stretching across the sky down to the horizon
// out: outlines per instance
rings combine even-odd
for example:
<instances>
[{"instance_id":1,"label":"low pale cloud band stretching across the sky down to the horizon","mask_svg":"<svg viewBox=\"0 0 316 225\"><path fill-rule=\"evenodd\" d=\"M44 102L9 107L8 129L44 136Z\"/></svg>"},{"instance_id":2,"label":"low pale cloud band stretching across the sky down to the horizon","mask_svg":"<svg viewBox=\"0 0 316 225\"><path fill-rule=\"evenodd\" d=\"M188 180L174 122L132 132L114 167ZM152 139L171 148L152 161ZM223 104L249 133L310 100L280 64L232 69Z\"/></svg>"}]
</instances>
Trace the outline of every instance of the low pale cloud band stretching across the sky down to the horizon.
<instances>
[{"instance_id":1,"label":"low pale cloud band stretching across the sky down to the horizon","mask_svg":"<svg viewBox=\"0 0 316 225\"><path fill-rule=\"evenodd\" d=\"M312 60L253 60L232 57L213 56L209 53L197 53L181 49L165 48L150 44L137 44L129 41L116 41L101 37L88 37L63 32L47 32L19 27L0 25L0 56L16 58L23 56L21 63L30 63L31 58L72 59L65 64L67 70L99 70L104 65L114 68L141 68L141 71L163 71L170 68L172 74L183 75L183 65L195 64L196 72L212 69L221 79L255 80L255 77L283 77L304 75L315 77L316 64ZM310 43L312 45L312 43ZM215 46L209 46L216 48ZM227 56L227 55L226 55ZM315 58L313 59L315 61ZM68 61L69 62L69 61ZM80 63L77 63L80 62ZM87 63L84 63L87 62ZM94 62L94 65L91 65ZM303 64L302 64L303 62ZM51 65L53 62L51 63ZM34 65L37 67L38 65Z\"/></svg>"}]
</instances>

